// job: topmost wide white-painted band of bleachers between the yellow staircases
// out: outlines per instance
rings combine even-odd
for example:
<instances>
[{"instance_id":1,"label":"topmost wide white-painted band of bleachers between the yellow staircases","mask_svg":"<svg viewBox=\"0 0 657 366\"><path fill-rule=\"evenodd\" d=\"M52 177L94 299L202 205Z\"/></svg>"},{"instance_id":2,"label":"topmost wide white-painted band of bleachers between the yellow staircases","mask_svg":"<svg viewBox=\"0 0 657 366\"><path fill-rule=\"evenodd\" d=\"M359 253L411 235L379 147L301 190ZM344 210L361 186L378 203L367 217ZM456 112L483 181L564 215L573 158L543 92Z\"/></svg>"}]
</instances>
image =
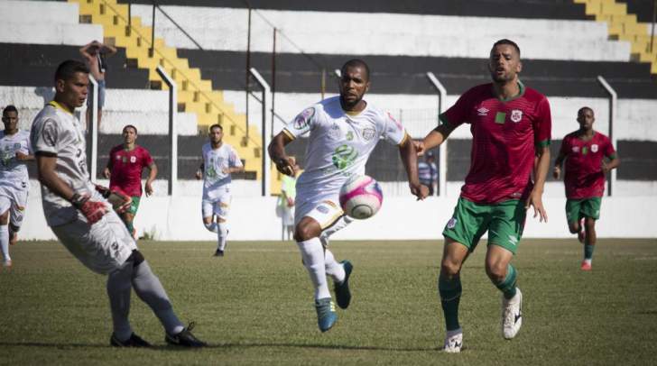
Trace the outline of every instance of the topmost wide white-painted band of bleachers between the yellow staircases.
<instances>
[{"instance_id":1,"label":"topmost wide white-painted band of bleachers between the yellow staircases","mask_svg":"<svg viewBox=\"0 0 657 366\"><path fill-rule=\"evenodd\" d=\"M208 50L246 50L247 11L217 7L162 6ZM152 7L134 5L150 24ZM163 16L156 35L172 47L196 46ZM481 58L493 42L517 41L526 59L629 60L630 44L608 41L605 23L545 19L486 18L420 14L363 14L256 10L252 51L271 51L273 27L280 52ZM359 41L345 41L345 40ZM366 40L366 41L362 41ZM551 47L545 47L545 45Z\"/></svg>"}]
</instances>

